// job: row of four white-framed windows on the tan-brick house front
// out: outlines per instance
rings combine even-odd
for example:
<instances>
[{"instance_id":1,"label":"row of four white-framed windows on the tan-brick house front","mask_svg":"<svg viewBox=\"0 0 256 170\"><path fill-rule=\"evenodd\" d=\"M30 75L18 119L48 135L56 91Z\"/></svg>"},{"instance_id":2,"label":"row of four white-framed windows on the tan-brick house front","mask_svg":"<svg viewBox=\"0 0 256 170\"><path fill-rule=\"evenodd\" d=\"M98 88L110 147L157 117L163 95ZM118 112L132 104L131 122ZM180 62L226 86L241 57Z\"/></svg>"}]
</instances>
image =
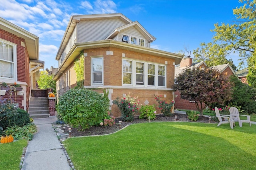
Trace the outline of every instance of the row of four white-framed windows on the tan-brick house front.
<instances>
[{"instance_id":1,"label":"row of four white-framed windows on the tan-brick house front","mask_svg":"<svg viewBox=\"0 0 256 170\"><path fill-rule=\"evenodd\" d=\"M166 87L165 65L123 59L122 68L123 85Z\"/></svg>"}]
</instances>

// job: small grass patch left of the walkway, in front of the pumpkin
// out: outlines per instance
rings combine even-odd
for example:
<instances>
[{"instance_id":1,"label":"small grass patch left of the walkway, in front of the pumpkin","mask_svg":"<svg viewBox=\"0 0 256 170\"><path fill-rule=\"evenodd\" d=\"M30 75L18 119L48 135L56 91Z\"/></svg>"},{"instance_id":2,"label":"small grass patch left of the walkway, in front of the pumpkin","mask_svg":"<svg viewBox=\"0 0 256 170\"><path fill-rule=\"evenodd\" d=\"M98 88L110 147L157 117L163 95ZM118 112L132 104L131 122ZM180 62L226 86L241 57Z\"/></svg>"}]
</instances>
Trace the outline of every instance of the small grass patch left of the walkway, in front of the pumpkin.
<instances>
[{"instance_id":1,"label":"small grass patch left of the walkway, in front of the pumpkin","mask_svg":"<svg viewBox=\"0 0 256 170\"><path fill-rule=\"evenodd\" d=\"M0 169L20 170L20 160L23 148L28 145L28 141L23 139L12 143L0 144Z\"/></svg>"}]
</instances>

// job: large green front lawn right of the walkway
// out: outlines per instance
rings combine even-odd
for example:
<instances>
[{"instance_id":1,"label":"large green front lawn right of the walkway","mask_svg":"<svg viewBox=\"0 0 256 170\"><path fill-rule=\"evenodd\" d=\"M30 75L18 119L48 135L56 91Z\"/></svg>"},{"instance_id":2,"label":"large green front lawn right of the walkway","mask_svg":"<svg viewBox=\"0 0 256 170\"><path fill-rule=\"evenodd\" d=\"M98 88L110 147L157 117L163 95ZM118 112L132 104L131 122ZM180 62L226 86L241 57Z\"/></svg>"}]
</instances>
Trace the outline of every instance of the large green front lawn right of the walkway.
<instances>
[{"instance_id":1,"label":"large green front lawn right of the walkway","mask_svg":"<svg viewBox=\"0 0 256 170\"><path fill-rule=\"evenodd\" d=\"M64 141L76 170L253 170L256 125L154 122Z\"/></svg>"}]
</instances>

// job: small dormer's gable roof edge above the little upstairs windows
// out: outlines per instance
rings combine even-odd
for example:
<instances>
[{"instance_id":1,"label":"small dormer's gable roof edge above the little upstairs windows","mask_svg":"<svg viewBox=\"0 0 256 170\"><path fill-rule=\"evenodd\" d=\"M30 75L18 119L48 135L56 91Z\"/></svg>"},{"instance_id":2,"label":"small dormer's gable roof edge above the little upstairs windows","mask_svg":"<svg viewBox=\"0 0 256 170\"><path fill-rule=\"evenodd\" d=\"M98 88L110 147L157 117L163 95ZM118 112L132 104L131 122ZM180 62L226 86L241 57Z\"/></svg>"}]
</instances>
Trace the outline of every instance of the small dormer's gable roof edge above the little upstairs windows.
<instances>
[{"instance_id":1,"label":"small dormer's gable roof edge above the little upstairs windows","mask_svg":"<svg viewBox=\"0 0 256 170\"><path fill-rule=\"evenodd\" d=\"M131 27L135 27L135 29L137 29L142 35L144 35L144 37L148 37L147 40L149 43L156 40L155 37L153 37L150 33L148 33L148 31L146 31L146 29L144 29L144 27L142 27L142 25L140 25L140 23L138 23L138 21L134 21L134 22L128 23L127 25L124 25L122 27L116 28L110 35L108 35L108 37L106 37L106 39L112 39L121 31L131 28Z\"/></svg>"}]
</instances>

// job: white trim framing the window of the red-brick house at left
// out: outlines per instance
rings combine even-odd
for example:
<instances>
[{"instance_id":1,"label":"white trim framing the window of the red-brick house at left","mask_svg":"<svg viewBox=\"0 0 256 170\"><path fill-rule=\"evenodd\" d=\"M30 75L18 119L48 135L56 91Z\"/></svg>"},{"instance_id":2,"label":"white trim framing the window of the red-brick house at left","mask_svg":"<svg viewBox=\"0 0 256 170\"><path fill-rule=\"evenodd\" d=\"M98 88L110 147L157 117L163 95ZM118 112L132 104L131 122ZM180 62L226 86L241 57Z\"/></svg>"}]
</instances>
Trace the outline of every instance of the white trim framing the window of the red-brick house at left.
<instances>
[{"instance_id":1,"label":"white trim framing the window of the red-brick house at left","mask_svg":"<svg viewBox=\"0 0 256 170\"><path fill-rule=\"evenodd\" d=\"M17 78L17 44L14 44L10 41L6 41L4 39L0 39L0 41L13 46L13 63L14 63L14 68L13 68L14 78L0 77L0 82L14 83L13 81L18 81L18 78Z\"/></svg>"}]
</instances>

